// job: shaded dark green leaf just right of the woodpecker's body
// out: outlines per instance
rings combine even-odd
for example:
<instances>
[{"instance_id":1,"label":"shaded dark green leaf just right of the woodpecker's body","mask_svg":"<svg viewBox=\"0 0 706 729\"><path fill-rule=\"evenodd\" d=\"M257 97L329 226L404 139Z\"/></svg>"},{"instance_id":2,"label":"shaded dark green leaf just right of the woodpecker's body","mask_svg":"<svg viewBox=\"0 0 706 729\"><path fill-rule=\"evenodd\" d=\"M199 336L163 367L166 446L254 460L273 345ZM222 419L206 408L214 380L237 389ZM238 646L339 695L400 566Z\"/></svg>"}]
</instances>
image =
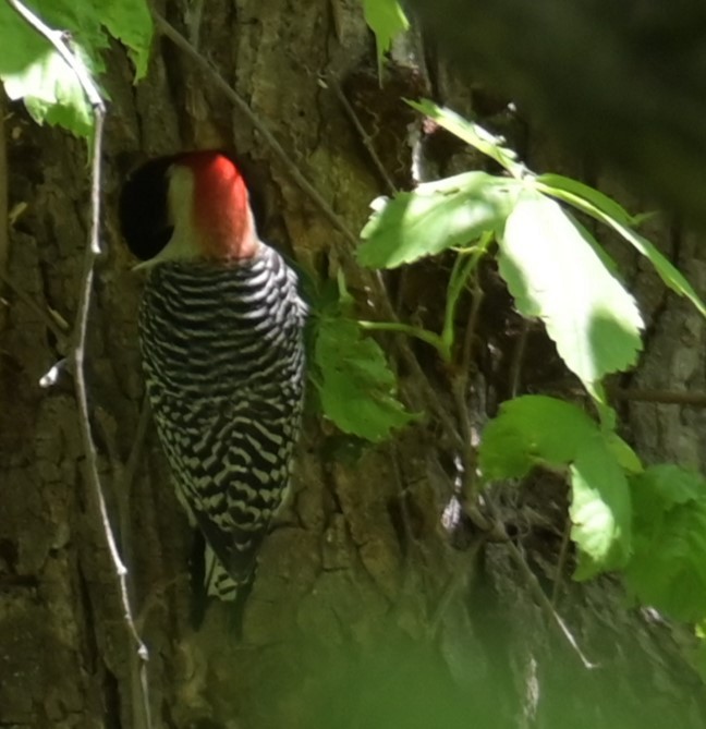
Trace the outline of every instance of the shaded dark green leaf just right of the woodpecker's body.
<instances>
[{"instance_id":1,"label":"shaded dark green leaf just right of the woodpecker's body","mask_svg":"<svg viewBox=\"0 0 706 729\"><path fill-rule=\"evenodd\" d=\"M397 399L382 350L355 321L322 317L314 357L324 413L344 433L379 442L414 417Z\"/></svg>"}]
</instances>

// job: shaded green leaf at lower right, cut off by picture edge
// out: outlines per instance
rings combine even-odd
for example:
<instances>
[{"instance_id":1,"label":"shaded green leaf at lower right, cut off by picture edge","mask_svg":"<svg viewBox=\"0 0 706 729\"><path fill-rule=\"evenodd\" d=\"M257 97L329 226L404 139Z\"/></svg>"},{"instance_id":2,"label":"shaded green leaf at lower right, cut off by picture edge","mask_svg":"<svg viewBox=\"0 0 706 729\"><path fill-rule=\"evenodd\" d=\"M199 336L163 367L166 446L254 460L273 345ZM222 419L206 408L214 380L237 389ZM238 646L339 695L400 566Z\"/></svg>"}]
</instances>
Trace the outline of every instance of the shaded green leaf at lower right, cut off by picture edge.
<instances>
[{"instance_id":1,"label":"shaded green leaf at lower right, cut off by picture edge","mask_svg":"<svg viewBox=\"0 0 706 729\"><path fill-rule=\"evenodd\" d=\"M647 469L632 479L633 557L625 569L631 593L672 618L706 615L706 479L674 465Z\"/></svg>"}]
</instances>

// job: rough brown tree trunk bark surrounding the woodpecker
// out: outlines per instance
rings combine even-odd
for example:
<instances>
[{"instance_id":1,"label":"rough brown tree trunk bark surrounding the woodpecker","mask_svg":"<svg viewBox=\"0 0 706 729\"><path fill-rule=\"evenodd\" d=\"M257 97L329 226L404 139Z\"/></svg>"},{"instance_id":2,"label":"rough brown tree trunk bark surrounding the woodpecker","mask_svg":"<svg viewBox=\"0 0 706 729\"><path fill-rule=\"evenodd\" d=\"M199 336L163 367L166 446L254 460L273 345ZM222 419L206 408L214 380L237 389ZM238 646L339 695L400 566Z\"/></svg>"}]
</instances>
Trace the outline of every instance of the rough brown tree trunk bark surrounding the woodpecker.
<instances>
[{"instance_id":1,"label":"rough brown tree trunk bark surrounding the woodpecker","mask_svg":"<svg viewBox=\"0 0 706 729\"><path fill-rule=\"evenodd\" d=\"M376 132L388 134L409 118L401 105L390 110L389 94L376 88L358 2L221 0L206 5L200 28L184 8L169 10L336 210L360 228L382 189L326 78L348 82L350 98L373 110L367 121ZM90 320L90 403L104 487L150 652L154 726L704 726L703 685L675 633L628 610L613 581L564 584L561 592L561 612L599 665L586 670L537 607L507 546L480 547L473 535L465 548L449 545L440 515L453 467L429 424L392 445L360 450L312 415L292 507L265 544L242 636L222 605L210 605L194 631L191 534L151 430L126 483L143 394L135 326L142 280L118 239L120 180L146 156L235 148L267 191L268 240L326 275L336 264L336 233L258 135L167 41L155 44L149 76L136 87L120 49L111 51L109 68L107 254ZM406 72L400 77L410 83ZM433 77L436 90L459 107L484 113L496 106L491 97L468 98L443 69ZM11 290L0 302L0 726L142 728L134 646L83 476L72 388L68 377L47 390L38 385L65 353L46 317L58 313L71 321L76 308L88 215L85 148L56 130L36 129L21 109L11 111L9 166L0 177L8 175L11 209L27 207L10 228L8 274L38 309ZM522 136L516 122L510 132ZM390 169L409 154L400 138L385 137ZM540 132L527 133L524 146L537 169L581 171ZM453 149L443 159L445 169L467 163ZM669 226L655 238L704 293L703 245ZM656 296L650 275L631 263L652 320L636 379L642 387L706 388L702 320L681 302ZM434 321L445 276L442 264L425 265L394 281L404 314ZM514 341L508 331L518 326L492 271L483 314L485 340L503 354L480 357L471 398L476 409L483 404L474 415L479 421L508 394ZM546 341L533 331L530 344L525 386L551 378ZM418 353L450 403L445 373L428 352ZM641 404L628 415L648 459L706 466L703 411ZM538 481L498 498L550 592L562 487Z\"/></svg>"}]
</instances>

